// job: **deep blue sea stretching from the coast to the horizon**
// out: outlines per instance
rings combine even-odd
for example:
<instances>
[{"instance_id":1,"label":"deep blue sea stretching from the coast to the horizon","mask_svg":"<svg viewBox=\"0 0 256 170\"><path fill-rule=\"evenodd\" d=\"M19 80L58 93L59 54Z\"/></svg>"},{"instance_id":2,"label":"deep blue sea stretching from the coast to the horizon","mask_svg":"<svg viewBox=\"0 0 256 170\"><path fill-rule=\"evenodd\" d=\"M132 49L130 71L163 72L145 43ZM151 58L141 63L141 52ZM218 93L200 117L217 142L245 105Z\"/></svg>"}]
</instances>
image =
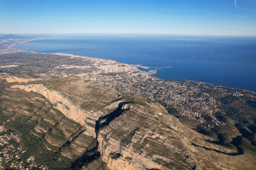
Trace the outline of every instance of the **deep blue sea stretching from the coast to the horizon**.
<instances>
[{"instance_id":1,"label":"deep blue sea stretching from the coast to the horizon","mask_svg":"<svg viewBox=\"0 0 256 170\"><path fill-rule=\"evenodd\" d=\"M256 92L256 37L94 34L50 37L14 49L111 59L157 70L154 76Z\"/></svg>"}]
</instances>

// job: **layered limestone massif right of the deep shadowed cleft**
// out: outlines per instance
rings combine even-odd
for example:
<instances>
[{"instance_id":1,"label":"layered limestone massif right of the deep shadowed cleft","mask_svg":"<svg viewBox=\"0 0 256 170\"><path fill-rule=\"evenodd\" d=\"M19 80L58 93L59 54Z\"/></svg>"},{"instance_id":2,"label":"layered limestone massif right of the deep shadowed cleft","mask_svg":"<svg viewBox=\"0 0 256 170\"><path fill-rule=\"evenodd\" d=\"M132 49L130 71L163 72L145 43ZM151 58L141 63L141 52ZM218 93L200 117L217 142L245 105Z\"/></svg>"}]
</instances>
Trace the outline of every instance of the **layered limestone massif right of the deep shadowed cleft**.
<instances>
[{"instance_id":1,"label":"layered limestone massif right of the deep shadowed cleft","mask_svg":"<svg viewBox=\"0 0 256 170\"><path fill-rule=\"evenodd\" d=\"M98 149L111 170L255 166L247 162L241 168L240 160L250 160L250 154L210 142L212 137L186 127L163 106L136 96L126 101L127 109L112 121L103 122L98 134Z\"/></svg>"}]
</instances>

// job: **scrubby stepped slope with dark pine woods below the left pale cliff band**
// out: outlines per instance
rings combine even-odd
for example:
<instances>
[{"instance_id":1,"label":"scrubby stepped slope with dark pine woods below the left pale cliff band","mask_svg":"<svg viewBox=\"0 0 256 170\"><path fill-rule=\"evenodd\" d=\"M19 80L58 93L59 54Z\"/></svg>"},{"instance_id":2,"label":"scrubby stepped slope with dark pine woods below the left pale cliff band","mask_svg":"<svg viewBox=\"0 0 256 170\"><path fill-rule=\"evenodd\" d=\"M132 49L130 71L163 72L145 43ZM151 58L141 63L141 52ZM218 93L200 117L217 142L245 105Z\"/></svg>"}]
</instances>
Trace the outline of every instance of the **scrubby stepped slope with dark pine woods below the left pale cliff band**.
<instances>
[{"instance_id":1,"label":"scrubby stepped slope with dark pine woods below the left pale cliff band","mask_svg":"<svg viewBox=\"0 0 256 170\"><path fill-rule=\"evenodd\" d=\"M77 161L82 155L70 144L74 143L86 151L93 140L82 133L78 135L82 131L79 123L64 117L38 93L1 88L0 96L0 123L2 125L5 122L5 128L19 135L22 150L26 150L21 154L23 162L32 156L37 165L46 165L49 170L81 168L77 164L84 164L86 160ZM73 134L74 141L68 142ZM47 140L60 145L56 147ZM85 146L78 145L77 140L78 144L84 142ZM66 149L70 148L74 160L61 155L62 145Z\"/></svg>"}]
</instances>

